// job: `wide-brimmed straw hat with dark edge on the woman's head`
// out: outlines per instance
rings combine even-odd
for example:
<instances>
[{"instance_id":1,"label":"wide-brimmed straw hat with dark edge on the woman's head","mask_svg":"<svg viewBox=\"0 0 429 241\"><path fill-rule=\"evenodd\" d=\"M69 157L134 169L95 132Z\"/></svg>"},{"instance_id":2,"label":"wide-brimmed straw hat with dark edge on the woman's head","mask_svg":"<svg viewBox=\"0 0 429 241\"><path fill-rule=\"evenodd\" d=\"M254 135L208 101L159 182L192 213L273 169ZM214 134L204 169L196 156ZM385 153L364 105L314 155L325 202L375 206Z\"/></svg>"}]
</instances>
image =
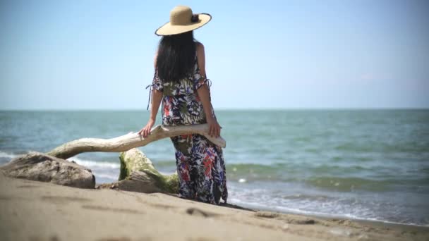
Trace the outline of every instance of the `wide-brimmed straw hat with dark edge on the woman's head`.
<instances>
[{"instance_id":1,"label":"wide-brimmed straw hat with dark edge on the woman's head","mask_svg":"<svg viewBox=\"0 0 429 241\"><path fill-rule=\"evenodd\" d=\"M212 19L208 13L193 14L188 6L176 6L170 11L170 21L155 31L155 35L178 35L202 27Z\"/></svg>"}]
</instances>

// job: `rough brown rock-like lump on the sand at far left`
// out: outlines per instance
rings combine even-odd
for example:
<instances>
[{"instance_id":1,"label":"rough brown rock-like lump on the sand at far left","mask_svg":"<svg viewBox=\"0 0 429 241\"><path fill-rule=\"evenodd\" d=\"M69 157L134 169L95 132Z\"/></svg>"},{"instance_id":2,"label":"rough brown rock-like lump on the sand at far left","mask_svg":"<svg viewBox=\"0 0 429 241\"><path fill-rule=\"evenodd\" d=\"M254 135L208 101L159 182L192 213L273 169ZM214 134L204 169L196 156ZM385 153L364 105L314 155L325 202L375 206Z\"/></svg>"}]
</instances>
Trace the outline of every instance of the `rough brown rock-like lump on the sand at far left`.
<instances>
[{"instance_id":1,"label":"rough brown rock-like lump on the sand at far left","mask_svg":"<svg viewBox=\"0 0 429 241\"><path fill-rule=\"evenodd\" d=\"M70 187L95 187L95 177L90 169L40 152L18 156L1 166L0 171L11 178L37 180Z\"/></svg>"}]
</instances>

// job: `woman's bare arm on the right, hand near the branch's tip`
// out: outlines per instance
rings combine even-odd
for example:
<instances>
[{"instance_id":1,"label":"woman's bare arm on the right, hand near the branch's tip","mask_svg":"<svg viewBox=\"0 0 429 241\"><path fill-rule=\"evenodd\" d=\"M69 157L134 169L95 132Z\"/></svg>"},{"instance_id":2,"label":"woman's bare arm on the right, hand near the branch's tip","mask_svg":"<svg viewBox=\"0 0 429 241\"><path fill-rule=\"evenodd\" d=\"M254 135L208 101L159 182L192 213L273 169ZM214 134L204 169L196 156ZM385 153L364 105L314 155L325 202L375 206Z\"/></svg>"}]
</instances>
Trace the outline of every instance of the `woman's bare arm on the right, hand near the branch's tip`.
<instances>
[{"instance_id":1,"label":"woman's bare arm on the right, hand near the branch's tip","mask_svg":"<svg viewBox=\"0 0 429 241\"><path fill-rule=\"evenodd\" d=\"M200 68L201 76L207 78L205 73L205 53L204 53L204 45L201 43L197 44L197 58L198 58L198 67ZM205 83L202 87L197 89L198 96L203 103L203 109L205 113L205 118L207 119L207 124L209 125L209 135L212 137L220 136L220 129L222 128L217 120L212 116L212 103L210 102L210 92L207 83Z\"/></svg>"}]
</instances>

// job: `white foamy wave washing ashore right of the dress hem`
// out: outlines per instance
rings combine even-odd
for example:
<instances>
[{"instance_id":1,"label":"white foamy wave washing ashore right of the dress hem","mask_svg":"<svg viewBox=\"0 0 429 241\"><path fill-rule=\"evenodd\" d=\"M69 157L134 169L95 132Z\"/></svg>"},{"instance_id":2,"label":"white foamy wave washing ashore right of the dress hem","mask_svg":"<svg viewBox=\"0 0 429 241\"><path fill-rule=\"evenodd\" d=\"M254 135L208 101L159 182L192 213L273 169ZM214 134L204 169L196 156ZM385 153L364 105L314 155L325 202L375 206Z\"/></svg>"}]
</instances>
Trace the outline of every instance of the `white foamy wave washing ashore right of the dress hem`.
<instances>
[{"instance_id":1,"label":"white foamy wave washing ashore right of the dress hem","mask_svg":"<svg viewBox=\"0 0 429 241\"><path fill-rule=\"evenodd\" d=\"M301 190L301 192L292 190L290 193L279 194L275 190L229 185L229 202L250 209L289 214L429 226L428 219L424 215L409 216L409 206L404 204L394 204L389 200L360 199L352 195L338 197L332 196L332 193L306 192L308 190Z\"/></svg>"}]
</instances>

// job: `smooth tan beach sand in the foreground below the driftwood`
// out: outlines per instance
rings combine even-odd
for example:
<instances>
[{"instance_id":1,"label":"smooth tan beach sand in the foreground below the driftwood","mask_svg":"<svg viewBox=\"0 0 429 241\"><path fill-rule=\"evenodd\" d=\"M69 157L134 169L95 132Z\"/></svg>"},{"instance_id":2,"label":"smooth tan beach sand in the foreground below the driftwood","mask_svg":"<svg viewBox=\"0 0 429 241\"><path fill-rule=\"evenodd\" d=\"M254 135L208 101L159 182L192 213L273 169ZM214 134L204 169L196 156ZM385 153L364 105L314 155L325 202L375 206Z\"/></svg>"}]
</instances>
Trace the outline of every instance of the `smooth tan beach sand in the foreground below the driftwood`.
<instances>
[{"instance_id":1,"label":"smooth tan beach sand in the foreground below the driftwood","mask_svg":"<svg viewBox=\"0 0 429 241\"><path fill-rule=\"evenodd\" d=\"M84 190L0 172L0 240L429 240L429 228Z\"/></svg>"}]
</instances>

